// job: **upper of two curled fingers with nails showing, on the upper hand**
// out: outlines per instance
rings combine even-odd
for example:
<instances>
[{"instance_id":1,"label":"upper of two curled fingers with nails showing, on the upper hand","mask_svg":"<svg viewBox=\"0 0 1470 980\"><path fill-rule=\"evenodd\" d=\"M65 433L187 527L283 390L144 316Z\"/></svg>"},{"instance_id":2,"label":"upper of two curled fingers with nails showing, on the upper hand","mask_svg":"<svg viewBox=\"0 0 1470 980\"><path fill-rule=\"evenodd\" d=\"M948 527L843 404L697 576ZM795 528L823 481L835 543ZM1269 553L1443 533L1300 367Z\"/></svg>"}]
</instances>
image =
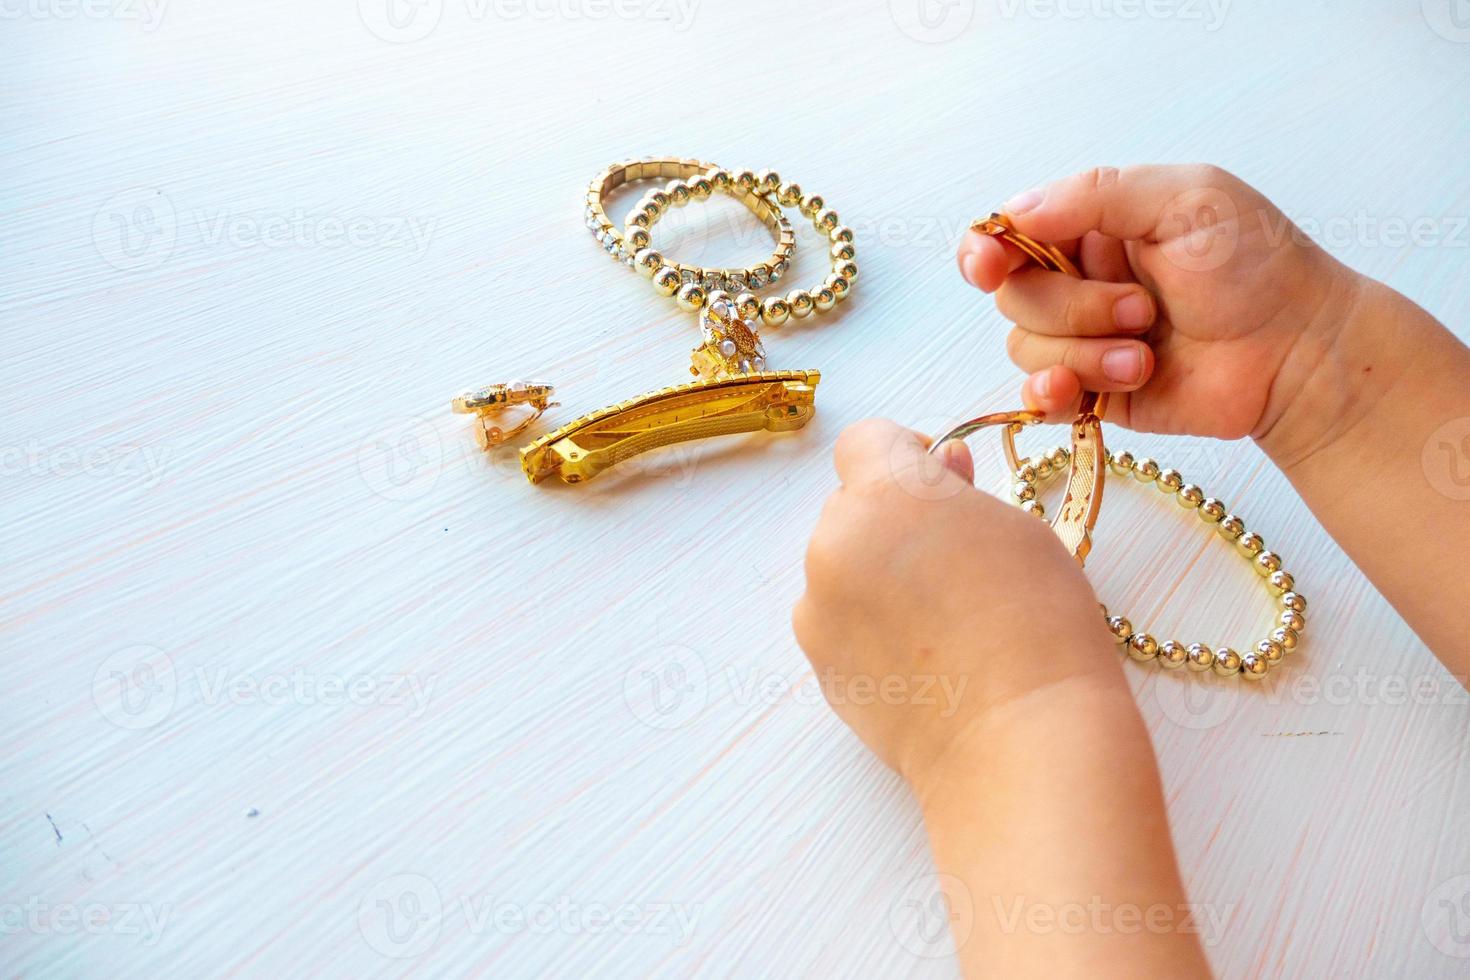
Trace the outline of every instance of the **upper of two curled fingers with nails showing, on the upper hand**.
<instances>
[{"instance_id":1,"label":"upper of two curled fingers with nails showing, on the upper hand","mask_svg":"<svg viewBox=\"0 0 1470 980\"><path fill-rule=\"evenodd\" d=\"M995 306L1013 323L1051 336L1142 334L1158 316L1154 297L1136 282L1092 282L1039 267L1010 273Z\"/></svg>"}]
</instances>

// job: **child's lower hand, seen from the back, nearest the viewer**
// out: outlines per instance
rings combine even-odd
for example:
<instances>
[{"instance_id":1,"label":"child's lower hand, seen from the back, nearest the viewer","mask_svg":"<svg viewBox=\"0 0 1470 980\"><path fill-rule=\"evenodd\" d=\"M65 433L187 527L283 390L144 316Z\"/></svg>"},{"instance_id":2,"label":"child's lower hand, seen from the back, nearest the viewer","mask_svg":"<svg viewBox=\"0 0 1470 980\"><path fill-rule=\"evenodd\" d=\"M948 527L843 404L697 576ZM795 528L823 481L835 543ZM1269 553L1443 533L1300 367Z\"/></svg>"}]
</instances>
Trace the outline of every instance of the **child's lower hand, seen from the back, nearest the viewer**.
<instances>
[{"instance_id":1,"label":"child's lower hand, seen from the back, nearest the viewer","mask_svg":"<svg viewBox=\"0 0 1470 980\"><path fill-rule=\"evenodd\" d=\"M792 617L838 716L920 792L998 705L1038 689L1036 714L1100 689L1136 713L1092 588L1051 529L975 489L963 442L942 458L926 445L876 419L842 433L842 486Z\"/></svg>"}]
</instances>

